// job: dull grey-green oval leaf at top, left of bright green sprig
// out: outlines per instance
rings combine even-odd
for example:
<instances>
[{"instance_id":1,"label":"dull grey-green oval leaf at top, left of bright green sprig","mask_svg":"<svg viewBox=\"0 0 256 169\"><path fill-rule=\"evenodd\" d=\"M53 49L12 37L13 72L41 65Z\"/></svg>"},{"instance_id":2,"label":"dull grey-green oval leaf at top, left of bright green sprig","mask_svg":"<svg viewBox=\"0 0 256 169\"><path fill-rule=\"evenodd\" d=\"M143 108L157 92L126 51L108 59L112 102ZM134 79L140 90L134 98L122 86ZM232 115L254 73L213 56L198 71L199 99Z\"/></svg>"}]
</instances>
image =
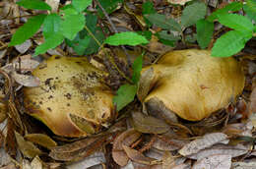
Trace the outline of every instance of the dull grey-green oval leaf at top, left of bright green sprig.
<instances>
[{"instance_id":1,"label":"dull grey-green oval leaf at top, left of bright green sprig","mask_svg":"<svg viewBox=\"0 0 256 169\"><path fill-rule=\"evenodd\" d=\"M205 18L206 9L206 5L201 2L187 6L181 15L181 25L187 28L196 24L198 20Z\"/></svg>"}]
</instances>

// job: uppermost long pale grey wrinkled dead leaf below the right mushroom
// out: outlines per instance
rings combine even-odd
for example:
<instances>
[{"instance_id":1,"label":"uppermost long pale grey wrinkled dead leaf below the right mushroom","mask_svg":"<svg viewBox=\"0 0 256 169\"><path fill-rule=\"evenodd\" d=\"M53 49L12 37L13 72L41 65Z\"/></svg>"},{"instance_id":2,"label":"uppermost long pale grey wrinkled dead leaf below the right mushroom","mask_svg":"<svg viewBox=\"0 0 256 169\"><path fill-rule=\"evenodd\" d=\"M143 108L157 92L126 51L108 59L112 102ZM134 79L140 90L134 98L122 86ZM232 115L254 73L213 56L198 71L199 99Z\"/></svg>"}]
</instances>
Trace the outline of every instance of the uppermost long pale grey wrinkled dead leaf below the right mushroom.
<instances>
[{"instance_id":1,"label":"uppermost long pale grey wrinkled dead leaf below the right mushroom","mask_svg":"<svg viewBox=\"0 0 256 169\"><path fill-rule=\"evenodd\" d=\"M227 140L227 136L223 133L213 133L205 135L202 139L191 141L183 146L178 152L183 155L191 155L197 153L201 149L212 146L213 144Z\"/></svg>"}]
</instances>

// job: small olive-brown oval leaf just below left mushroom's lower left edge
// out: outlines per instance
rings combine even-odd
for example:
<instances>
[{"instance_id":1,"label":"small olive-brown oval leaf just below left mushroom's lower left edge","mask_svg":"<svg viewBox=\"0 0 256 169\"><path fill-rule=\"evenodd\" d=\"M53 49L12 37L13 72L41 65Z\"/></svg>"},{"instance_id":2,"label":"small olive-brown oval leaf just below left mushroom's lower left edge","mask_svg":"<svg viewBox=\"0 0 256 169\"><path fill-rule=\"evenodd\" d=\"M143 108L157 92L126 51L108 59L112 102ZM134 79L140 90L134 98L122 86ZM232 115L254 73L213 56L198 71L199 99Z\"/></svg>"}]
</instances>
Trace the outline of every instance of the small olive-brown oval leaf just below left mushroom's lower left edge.
<instances>
[{"instance_id":1,"label":"small olive-brown oval leaf just below left mushroom's lower left edge","mask_svg":"<svg viewBox=\"0 0 256 169\"><path fill-rule=\"evenodd\" d=\"M44 134L28 134L24 138L48 149L53 146L57 146L57 143L55 141L53 141L50 137Z\"/></svg>"}]
</instances>

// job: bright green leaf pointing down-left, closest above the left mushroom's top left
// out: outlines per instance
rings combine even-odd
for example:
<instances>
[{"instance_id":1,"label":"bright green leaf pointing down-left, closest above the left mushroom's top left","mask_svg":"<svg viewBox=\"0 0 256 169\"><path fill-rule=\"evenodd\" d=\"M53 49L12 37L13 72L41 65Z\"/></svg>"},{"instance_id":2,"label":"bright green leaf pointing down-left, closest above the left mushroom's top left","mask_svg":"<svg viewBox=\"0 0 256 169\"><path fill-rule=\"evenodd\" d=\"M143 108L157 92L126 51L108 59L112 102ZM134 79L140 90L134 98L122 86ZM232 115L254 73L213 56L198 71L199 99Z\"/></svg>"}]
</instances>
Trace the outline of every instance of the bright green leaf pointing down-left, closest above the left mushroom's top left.
<instances>
[{"instance_id":1,"label":"bright green leaf pointing down-left, closest above the left mushroom's top left","mask_svg":"<svg viewBox=\"0 0 256 169\"><path fill-rule=\"evenodd\" d=\"M48 49L53 49L58 46L64 40L64 36L62 34L53 35L47 39L45 39L44 43L37 46L35 48L35 52L33 56L37 56L38 54L45 53Z\"/></svg>"}]
</instances>

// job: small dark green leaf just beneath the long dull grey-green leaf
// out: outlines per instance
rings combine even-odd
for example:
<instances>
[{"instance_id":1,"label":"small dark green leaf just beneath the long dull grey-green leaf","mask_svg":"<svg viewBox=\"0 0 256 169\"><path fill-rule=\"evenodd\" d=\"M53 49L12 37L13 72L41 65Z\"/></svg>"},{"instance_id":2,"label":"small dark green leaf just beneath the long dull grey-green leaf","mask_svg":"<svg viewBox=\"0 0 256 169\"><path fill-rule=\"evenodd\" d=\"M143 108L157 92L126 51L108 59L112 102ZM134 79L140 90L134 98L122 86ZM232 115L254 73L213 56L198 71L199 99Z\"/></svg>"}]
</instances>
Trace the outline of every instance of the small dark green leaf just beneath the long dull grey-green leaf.
<instances>
[{"instance_id":1,"label":"small dark green leaf just beneath the long dull grey-green leaf","mask_svg":"<svg viewBox=\"0 0 256 169\"><path fill-rule=\"evenodd\" d=\"M166 45L174 46L177 40L180 39L180 36L174 36L171 32L167 30L161 30L157 33L160 38L160 42Z\"/></svg>"}]
</instances>

